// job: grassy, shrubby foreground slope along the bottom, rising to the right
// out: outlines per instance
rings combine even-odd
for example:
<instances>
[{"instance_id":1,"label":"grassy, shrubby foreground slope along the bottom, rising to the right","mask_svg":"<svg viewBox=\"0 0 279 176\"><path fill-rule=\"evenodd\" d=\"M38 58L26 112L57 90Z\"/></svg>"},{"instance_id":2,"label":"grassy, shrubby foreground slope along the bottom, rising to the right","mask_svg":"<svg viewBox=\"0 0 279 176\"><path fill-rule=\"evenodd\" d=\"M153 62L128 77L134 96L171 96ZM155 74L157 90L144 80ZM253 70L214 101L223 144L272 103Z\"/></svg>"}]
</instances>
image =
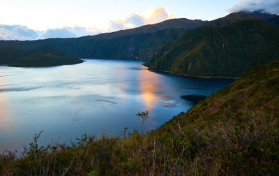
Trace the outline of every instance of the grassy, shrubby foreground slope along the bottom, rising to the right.
<instances>
[{"instance_id":1,"label":"grassy, shrubby foreground slope along the bottom, rising to the right","mask_svg":"<svg viewBox=\"0 0 279 176\"><path fill-rule=\"evenodd\" d=\"M274 61L145 135L124 129L55 147L35 135L23 157L0 156L0 175L278 175L278 100Z\"/></svg>"}]
</instances>

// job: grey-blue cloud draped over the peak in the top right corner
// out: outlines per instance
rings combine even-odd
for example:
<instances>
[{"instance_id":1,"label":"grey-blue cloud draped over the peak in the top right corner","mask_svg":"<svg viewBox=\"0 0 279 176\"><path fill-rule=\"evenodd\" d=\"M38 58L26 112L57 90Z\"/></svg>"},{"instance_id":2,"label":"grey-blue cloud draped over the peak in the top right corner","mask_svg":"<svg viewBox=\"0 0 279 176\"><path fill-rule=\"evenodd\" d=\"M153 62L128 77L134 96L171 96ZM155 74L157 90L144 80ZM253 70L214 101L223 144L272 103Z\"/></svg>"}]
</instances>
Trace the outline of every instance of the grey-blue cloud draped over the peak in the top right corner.
<instances>
[{"instance_id":1,"label":"grey-blue cloud draped over the peak in the top right corner","mask_svg":"<svg viewBox=\"0 0 279 176\"><path fill-rule=\"evenodd\" d=\"M248 11L264 10L269 13L279 14L279 1L278 0L240 0L229 10L231 12L239 12L242 10L248 10Z\"/></svg>"}]
</instances>

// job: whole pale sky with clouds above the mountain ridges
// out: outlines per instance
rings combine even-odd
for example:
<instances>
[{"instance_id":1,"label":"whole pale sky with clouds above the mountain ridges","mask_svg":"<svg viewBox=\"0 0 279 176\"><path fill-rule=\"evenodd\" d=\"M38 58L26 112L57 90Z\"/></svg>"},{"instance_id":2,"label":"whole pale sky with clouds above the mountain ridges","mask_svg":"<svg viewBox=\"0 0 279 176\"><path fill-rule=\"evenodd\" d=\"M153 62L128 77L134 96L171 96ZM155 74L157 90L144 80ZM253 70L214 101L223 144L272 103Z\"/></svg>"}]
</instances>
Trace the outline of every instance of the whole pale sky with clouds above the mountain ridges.
<instances>
[{"instance_id":1,"label":"whole pale sky with clouds above the mountain ridges","mask_svg":"<svg viewBox=\"0 0 279 176\"><path fill-rule=\"evenodd\" d=\"M0 0L0 40L100 34L186 17L214 20L239 10L279 13L279 0Z\"/></svg>"}]
</instances>

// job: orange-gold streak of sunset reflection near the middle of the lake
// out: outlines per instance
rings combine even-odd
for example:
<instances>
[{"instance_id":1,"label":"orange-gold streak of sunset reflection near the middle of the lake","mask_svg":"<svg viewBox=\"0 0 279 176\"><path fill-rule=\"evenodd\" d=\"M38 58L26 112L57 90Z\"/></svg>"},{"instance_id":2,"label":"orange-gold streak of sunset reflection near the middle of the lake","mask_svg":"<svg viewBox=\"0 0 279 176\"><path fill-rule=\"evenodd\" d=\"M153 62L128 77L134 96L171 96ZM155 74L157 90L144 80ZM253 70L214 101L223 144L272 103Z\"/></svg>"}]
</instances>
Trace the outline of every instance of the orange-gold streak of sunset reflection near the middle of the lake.
<instances>
[{"instance_id":1,"label":"orange-gold streak of sunset reflection near the middle of the lake","mask_svg":"<svg viewBox=\"0 0 279 176\"><path fill-rule=\"evenodd\" d=\"M158 90L158 75L150 74L146 69L140 71L138 76L140 81L140 91L142 91L142 98L146 105L146 108L154 108L154 102L156 101L156 91Z\"/></svg>"}]
</instances>

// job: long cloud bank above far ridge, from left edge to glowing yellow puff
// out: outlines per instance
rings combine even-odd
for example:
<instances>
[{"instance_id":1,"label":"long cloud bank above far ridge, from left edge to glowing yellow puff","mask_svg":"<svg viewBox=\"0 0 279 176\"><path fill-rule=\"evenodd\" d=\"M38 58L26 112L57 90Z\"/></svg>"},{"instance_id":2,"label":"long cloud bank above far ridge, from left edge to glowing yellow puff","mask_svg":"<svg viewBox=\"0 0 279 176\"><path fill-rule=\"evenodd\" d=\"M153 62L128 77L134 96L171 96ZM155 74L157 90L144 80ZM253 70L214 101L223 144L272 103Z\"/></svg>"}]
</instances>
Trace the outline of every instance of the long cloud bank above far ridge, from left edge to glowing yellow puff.
<instances>
[{"instance_id":1,"label":"long cloud bank above far ridge, from left edge to glowing yellow puff","mask_svg":"<svg viewBox=\"0 0 279 176\"><path fill-rule=\"evenodd\" d=\"M70 38L96 35L103 32L118 31L121 29L130 29L140 27L144 24L154 24L172 19L172 13L167 13L164 7L149 8L143 13L132 13L123 20L111 20L106 28L98 27L61 27L46 29L43 31L30 29L23 25L5 25L0 24L0 40L36 40L45 38Z\"/></svg>"}]
</instances>

